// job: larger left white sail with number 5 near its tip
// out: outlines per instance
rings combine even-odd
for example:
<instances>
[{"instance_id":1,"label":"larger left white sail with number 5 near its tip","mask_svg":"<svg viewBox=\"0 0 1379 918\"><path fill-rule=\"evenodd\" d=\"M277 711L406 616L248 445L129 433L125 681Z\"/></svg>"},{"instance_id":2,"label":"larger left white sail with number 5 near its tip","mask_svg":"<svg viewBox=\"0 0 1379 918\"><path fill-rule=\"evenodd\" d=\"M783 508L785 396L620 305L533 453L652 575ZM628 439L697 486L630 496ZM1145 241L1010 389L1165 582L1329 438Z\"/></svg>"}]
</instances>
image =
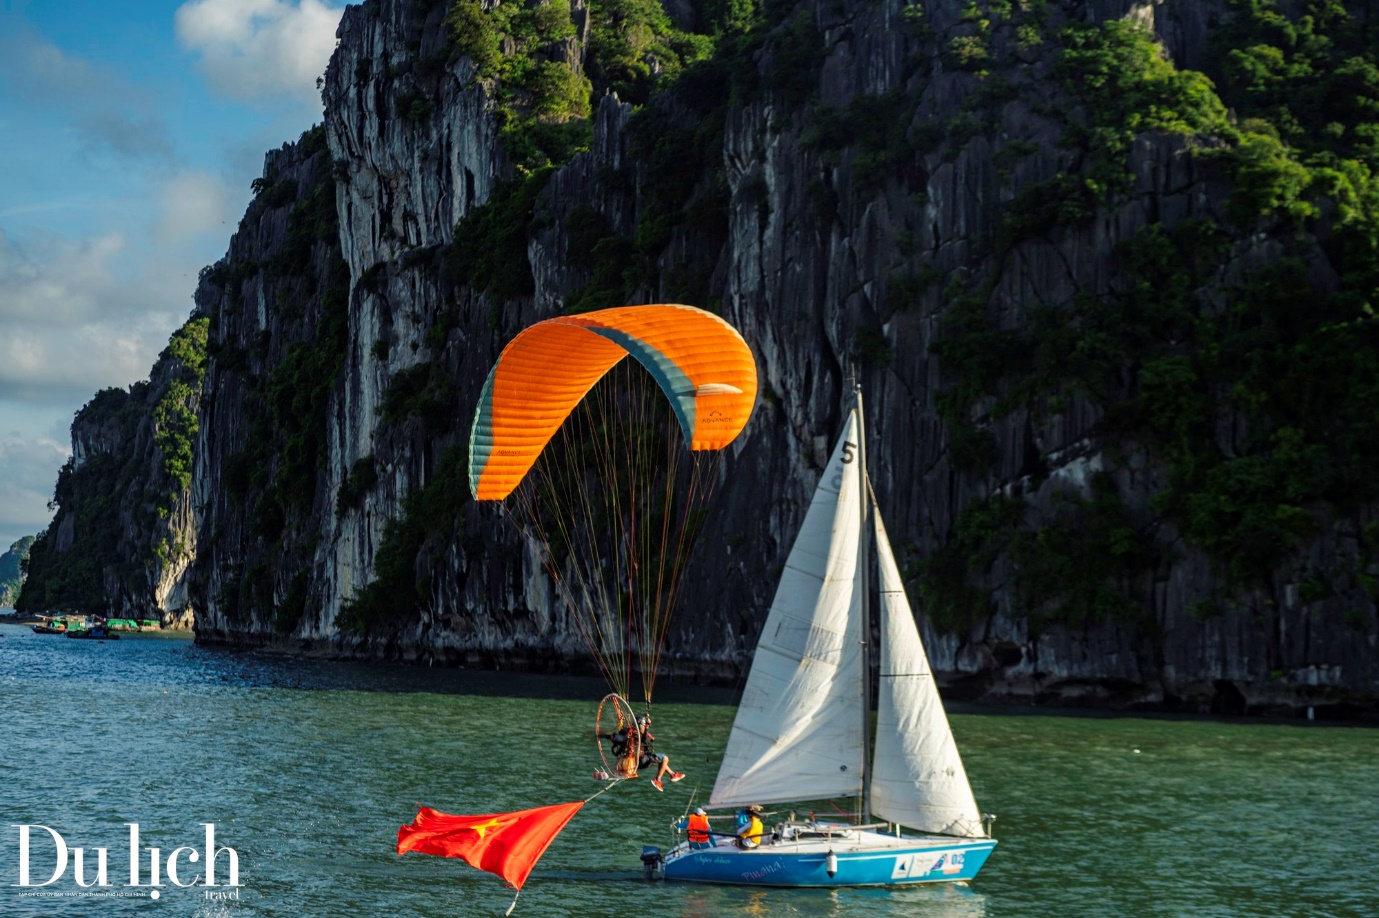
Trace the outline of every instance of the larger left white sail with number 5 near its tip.
<instances>
[{"instance_id":1,"label":"larger left white sail with number 5 near its tip","mask_svg":"<svg viewBox=\"0 0 1379 918\"><path fill-rule=\"evenodd\" d=\"M852 411L790 549L710 805L862 793L859 426Z\"/></svg>"}]
</instances>

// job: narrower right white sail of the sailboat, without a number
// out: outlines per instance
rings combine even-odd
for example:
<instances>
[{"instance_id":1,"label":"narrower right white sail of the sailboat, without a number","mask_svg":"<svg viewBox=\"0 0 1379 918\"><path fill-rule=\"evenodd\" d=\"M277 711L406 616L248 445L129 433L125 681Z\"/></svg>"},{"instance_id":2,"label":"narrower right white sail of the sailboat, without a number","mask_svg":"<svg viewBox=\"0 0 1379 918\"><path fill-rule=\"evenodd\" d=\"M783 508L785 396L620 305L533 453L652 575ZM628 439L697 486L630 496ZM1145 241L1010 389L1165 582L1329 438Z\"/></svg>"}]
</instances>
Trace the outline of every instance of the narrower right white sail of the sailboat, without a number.
<instances>
[{"instance_id":1,"label":"narrower right white sail of the sailboat, without a number","mask_svg":"<svg viewBox=\"0 0 1379 918\"><path fill-rule=\"evenodd\" d=\"M985 838L891 542L881 514L876 507L873 513L881 573L881 663L872 812L927 833Z\"/></svg>"}]
</instances>

